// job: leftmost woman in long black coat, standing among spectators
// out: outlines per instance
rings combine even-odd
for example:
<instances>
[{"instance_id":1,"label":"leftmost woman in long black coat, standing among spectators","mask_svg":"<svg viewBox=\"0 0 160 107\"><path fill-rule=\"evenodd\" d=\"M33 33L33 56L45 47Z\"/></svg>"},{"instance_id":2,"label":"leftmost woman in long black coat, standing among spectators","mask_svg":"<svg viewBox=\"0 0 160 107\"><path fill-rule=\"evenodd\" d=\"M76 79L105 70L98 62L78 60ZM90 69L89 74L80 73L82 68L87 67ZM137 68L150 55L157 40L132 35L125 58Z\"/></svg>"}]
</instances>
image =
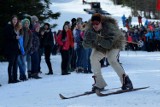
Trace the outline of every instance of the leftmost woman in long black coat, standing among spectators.
<instances>
[{"instance_id":1,"label":"leftmost woman in long black coat, standing among spectators","mask_svg":"<svg viewBox=\"0 0 160 107\"><path fill-rule=\"evenodd\" d=\"M17 58L19 54L19 36L15 30L18 22L18 17L13 16L11 23L5 28L5 54L7 56L8 64L8 83L17 83Z\"/></svg>"}]
</instances>

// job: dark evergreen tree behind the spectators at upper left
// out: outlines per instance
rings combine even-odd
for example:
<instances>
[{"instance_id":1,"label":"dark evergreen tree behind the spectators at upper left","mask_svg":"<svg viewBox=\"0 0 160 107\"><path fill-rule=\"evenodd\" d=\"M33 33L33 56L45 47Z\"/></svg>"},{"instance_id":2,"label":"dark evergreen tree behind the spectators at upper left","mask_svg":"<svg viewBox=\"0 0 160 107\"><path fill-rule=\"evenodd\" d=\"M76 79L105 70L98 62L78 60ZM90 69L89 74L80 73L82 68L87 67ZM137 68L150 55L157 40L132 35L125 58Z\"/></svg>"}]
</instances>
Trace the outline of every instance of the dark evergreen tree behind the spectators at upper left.
<instances>
[{"instance_id":1,"label":"dark evergreen tree behind the spectators at upper left","mask_svg":"<svg viewBox=\"0 0 160 107\"><path fill-rule=\"evenodd\" d=\"M0 51L3 45L3 28L13 15L19 19L36 15L40 22L58 19L59 12L50 10L50 0L0 0Z\"/></svg>"}]
</instances>

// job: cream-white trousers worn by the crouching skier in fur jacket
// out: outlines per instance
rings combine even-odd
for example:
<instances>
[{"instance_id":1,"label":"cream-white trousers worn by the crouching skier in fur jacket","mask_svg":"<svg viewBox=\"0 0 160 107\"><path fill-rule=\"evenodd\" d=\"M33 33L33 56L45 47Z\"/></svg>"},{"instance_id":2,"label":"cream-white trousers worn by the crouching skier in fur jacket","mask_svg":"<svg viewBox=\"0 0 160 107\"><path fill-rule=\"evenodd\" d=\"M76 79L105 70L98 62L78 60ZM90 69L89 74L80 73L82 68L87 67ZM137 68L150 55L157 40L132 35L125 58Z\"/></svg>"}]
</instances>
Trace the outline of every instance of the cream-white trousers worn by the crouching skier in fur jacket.
<instances>
[{"instance_id":1,"label":"cream-white trousers worn by the crouching skier in fur jacket","mask_svg":"<svg viewBox=\"0 0 160 107\"><path fill-rule=\"evenodd\" d=\"M90 60L91 60L91 67L92 67L92 70L95 76L95 80L96 80L96 83L94 84L94 86L98 88L104 88L107 85L102 76L101 64L99 62L104 57L107 57L109 64L118 74L121 83L123 83L122 75L125 74L125 71L122 68L122 66L119 64L119 62L117 61L117 56L119 54L119 51L120 51L119 49L112 49L110 51L107 51L106 54L103 54L97 51L96 49L92 50Z\"/></svg>"}]
</instances>

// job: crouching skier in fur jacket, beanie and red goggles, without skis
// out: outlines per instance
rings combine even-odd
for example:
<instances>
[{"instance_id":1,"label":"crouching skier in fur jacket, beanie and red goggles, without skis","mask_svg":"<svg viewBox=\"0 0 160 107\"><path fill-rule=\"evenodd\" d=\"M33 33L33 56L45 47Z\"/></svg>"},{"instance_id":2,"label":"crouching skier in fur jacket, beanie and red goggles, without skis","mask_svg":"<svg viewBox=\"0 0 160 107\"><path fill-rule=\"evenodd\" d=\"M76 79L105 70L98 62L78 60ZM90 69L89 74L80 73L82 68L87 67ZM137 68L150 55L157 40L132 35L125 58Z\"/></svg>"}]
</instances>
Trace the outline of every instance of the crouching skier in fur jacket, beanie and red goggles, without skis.
<instances>
[{"instance_id":1,"label":"crouching skier in fur jacket, beanie and red goggles, without skis","mask_svg":"<svg viewBox=\"0 0 160 107\"><path fill-rule=\"evenodd\" d=\"M87 23L83 46L92 48L90 56L91 67L94 73L95 84L92 91L101 91L107 86L102 73L100 60L107 57L109 64L117 73L122 84L122 90L133 89L129 76L125 73L123 67L117 61L117 55L123 48L124 35L118 28L115 19L109 16L103 16L99 13L92 15Z\"/></svg>"}]
</instances>

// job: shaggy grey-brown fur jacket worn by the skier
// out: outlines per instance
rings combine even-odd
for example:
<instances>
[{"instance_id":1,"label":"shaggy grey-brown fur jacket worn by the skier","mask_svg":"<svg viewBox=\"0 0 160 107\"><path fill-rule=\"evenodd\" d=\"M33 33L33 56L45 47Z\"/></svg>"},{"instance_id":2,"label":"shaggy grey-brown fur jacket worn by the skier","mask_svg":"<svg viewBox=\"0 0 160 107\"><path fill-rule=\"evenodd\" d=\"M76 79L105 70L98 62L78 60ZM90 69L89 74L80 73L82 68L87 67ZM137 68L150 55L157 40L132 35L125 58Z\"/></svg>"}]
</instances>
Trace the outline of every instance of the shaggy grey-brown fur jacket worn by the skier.
<instances>
[{"instance_id":1,"label":"shaggy grey-brown fur jacket worn by the skier","mask_svg":"<svg viewBox=\"0 0 160 107\"><path fill-rule=\"evenodd\" d=\"M95 48L102 53L112 49L122 49L125 44L125 37L118 28L116 20L108 16L102 16L101 23L102 29L99 32L93 29L91 21L87 23L83 46Z\"/></svg>"}]
</instances>

